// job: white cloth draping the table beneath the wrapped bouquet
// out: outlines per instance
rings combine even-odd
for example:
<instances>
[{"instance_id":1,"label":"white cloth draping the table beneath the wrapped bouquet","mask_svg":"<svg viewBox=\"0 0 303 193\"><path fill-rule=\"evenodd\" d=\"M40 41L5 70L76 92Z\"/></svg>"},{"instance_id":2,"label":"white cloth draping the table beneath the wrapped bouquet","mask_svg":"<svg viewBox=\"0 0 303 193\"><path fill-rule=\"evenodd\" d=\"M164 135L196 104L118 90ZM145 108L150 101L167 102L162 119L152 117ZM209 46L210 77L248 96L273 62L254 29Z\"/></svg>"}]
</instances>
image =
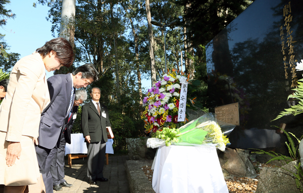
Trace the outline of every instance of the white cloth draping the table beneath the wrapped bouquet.
<instances>
[{"instance_id":1,"label":"white cloth draping the table beneath the wrapped bouquet","mask_svg":"<svg viewBox=\"0 0 303 193\"><path fill-rule=\"evenodd\" d=\"M155 159L157 193L228 193L214 147L162 146Z\"/></svg>"}]
</instances>

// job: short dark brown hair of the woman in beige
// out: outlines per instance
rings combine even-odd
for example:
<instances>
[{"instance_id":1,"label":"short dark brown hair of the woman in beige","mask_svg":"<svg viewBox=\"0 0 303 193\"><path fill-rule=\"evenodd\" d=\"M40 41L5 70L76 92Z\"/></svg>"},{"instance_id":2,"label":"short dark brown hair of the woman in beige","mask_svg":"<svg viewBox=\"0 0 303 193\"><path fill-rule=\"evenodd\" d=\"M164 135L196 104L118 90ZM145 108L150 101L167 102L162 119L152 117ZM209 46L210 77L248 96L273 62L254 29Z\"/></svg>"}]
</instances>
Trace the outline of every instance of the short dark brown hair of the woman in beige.
<instances>
[{"instance_id":1,"label":"short dark brown hair of the woman in beige","mask_svg":"<svg viewBox=\"0 0 303 193\"><path fill-rule=\"evenodd\" d=\"M56 52L56 58L59 62L70 67L74 61L74 51L71 44L64 38L54 38L44 44L41 48L36 49L42 57L44 58L52 50Z\"/></svg>"}]
</instances>

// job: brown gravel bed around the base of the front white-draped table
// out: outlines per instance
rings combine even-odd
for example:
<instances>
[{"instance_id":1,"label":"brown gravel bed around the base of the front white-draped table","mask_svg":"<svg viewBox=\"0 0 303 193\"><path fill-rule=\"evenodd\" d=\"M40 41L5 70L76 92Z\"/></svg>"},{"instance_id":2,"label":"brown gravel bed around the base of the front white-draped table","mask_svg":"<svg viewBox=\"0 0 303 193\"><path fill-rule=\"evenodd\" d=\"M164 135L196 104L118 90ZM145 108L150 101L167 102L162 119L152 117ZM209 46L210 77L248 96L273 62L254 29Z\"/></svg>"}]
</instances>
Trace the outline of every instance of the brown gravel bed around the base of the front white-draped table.
<instances>
[{"instance_id":1,"label":"brown gravel bed around the base of the front white-draped table","mask_svg":"<svg viewBox=\"0 0 303 193\"><path fill-rule=\"evenodd\" d=\"M256 192L257 186L258 186L258 179L260 175L260 171L263 167L277 167L275 165L271 164L265 164L265 163L258 163L253 162L252 163L255 167L257 177L256 178L247 178L247 177L230 177L229 179L225 179L228 190L230 193L252 193ZM154 170L151 170L151 166L142 166L141 169L145 173L146 177L148 177L148 180L153 180L153 172Z\"/></svg>"}]
</instances>

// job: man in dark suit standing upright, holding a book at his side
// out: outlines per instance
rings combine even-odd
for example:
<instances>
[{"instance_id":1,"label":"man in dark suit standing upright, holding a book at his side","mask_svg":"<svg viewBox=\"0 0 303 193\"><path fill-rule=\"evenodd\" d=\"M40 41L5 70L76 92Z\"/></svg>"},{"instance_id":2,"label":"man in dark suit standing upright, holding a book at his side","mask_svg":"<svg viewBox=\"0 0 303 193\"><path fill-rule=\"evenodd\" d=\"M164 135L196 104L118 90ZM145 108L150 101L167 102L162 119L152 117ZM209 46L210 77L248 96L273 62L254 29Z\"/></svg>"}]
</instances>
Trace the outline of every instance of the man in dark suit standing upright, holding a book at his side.
<instances>
[{"instance_id":1,"label":"man in dark suit standing upright, holding a book at his side","mask_svg":"<svg viewBox=\"0 0 303 193\"><path fill-rule=\"evenodd\" d=\"M100 88L90 91L91 102L82 106L81 127L87 145L87 177L90 184L108 181L103 176L106 142L106 127L111 127L109 112L105 105L99 103Z\"/></svg>"}]
</instances>

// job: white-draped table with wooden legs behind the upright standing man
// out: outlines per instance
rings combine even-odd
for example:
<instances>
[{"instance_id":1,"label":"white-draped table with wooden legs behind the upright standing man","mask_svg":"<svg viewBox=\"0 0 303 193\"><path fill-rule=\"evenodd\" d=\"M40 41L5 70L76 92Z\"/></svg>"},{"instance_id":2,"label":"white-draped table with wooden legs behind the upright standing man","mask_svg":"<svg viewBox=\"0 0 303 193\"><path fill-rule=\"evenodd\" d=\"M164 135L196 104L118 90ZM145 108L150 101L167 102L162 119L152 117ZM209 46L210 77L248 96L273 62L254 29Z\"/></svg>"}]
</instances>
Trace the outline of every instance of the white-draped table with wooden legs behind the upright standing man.
<instances>
[{"instance_id":1,"label":"white-draped table with wooden legs behind the upright standing man","mask_svg":"<svg viewBox=\"0 0 303 193\"><path fill-rule=\"evenodd\" d=\"M114 154L113 139L108 139L106 142L106 164L109 164L108 154ZM87 155L72 155L72 154L87 154L87 146L82 133L71 134L71 144L65 145L65 155L68 154L68 164L72 167L72 159L87 157Z\"/></svg>"}]
</instances>

